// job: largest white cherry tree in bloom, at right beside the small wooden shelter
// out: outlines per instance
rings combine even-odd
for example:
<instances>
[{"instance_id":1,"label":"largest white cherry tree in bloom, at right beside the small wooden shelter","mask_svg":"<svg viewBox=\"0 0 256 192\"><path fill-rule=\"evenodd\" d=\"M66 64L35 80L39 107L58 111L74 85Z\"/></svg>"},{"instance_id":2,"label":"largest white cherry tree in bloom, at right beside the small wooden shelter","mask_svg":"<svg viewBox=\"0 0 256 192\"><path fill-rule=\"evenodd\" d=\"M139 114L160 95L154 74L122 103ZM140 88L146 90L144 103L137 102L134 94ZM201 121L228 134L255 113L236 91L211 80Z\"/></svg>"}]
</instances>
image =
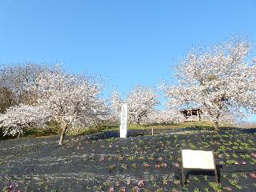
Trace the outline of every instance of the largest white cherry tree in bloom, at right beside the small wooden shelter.
<instances>
[{"instance_id":1,"label":"largest white cherry tree in bloom, at right beside the small wooden shelter","mask_svg":"<svg viewBox=\"0 0 256 192\"><path fill-rule=\"evenodd\" d=\"M255 62L252 46L236 38L214 46L190 51L177 66L178 85L166 86L168 106L204 108L218 130L223 114L242 118L255 111Z\"/></svg>"}]
</instances>

